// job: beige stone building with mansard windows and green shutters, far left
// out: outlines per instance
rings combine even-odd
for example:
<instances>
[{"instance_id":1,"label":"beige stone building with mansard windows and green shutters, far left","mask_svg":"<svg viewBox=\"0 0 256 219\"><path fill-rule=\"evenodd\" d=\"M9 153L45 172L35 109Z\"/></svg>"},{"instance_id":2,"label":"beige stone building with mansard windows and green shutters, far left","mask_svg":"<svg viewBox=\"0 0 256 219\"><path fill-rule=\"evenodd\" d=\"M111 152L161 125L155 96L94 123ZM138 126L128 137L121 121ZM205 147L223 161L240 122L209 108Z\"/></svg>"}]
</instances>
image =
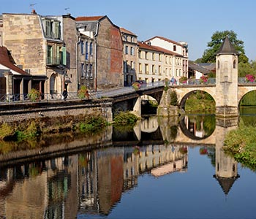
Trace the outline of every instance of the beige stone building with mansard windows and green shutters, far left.
<instances>
[{"instance_id":1,"label":"beige stone building with mansard windows and green shutters, far left","mask_svg":"<svg viewBox=\"0 0 256 219\"><path fill-rule=\"evenodd\" d=\"M64 88L77 91L75 18L70 15L2 15L2 44L10 50L20 69L42 76L32 82L45 94L60 98Z\"/></svg>"}]
</instances>

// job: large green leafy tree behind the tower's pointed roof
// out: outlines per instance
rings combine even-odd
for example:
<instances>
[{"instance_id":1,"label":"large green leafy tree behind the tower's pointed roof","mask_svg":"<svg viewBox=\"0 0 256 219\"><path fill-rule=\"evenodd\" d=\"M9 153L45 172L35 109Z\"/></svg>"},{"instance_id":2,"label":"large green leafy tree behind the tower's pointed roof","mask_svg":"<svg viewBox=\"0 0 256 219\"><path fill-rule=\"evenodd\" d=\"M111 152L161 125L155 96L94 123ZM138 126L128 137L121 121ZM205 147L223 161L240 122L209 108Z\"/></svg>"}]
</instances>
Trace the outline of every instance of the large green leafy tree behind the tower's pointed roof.
<instances>
[{"instance_id":1,"label":"large green leafy tree behind the tower's pointed roof","mask_svg":"<svg viewBox=\"0 0 256 219\"><path fill-rule=\"evenodd\" d=\"M237 34L234 31L216 31L212 37L211 42L208 42L207 46L209 47L203 53L202 62L203 63L213 63L216 61L216 53L221 47L225 37L230 39L230 42L235 47L235 49L240 53L238 57L238 62L247 63L248 58L244 55L244 42L240 39L237 39Z\"/></svg>"}]
</instances>

